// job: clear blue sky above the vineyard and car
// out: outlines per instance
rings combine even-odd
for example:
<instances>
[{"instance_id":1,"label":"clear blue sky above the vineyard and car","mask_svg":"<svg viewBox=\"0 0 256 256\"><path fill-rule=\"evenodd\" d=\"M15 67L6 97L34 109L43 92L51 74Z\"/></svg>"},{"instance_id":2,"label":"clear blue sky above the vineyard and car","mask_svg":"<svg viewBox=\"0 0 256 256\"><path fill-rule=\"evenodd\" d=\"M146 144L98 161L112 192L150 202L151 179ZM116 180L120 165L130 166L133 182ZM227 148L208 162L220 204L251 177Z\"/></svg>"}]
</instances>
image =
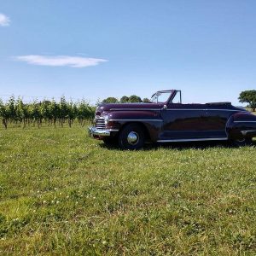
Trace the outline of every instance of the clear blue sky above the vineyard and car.
<instances>
[{"instance_id":1,"label":"clear blue sky above the vineyard and car","mask_svg":"<svg viewBox=\"0 0 256 256\"><path fill-rule=\"evenodd\" d=\"M3 98L179 89L241 105L256 88L254 0L0 0L0 14Z\"/></svg>"}]
</instances>

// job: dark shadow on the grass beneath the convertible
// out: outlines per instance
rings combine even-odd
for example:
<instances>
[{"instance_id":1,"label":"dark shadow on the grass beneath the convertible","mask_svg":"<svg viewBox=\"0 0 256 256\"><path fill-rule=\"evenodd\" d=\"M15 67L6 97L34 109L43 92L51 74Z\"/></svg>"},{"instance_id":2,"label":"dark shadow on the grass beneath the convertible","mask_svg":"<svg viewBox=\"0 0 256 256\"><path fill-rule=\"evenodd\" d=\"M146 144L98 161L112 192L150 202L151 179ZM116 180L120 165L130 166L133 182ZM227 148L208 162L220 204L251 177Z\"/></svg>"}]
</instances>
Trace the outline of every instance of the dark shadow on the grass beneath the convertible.
<instances>
[{"instance_id":1,"label":"dark shadow on the grass beneath the convertible","mask_svg":"<svg viewBox=\"0 0 256 256\"><path fill-rule=\"evenodd\" d=\"M110 150L120 150L118 145L106 145L105 143L100 143L99 146L101 148L108 148ZM253 141L250 147L256 148L256 141ZM157 150L159 148L166 148L166 149L206 149L206 148L239 148L233 146L229 142L222 142L222 141L207 141L207 142L187 142L187 143L146 143L143 147L143 150ZM242 147L241 147L242 148Z\"/></svg>"}]
</instances>

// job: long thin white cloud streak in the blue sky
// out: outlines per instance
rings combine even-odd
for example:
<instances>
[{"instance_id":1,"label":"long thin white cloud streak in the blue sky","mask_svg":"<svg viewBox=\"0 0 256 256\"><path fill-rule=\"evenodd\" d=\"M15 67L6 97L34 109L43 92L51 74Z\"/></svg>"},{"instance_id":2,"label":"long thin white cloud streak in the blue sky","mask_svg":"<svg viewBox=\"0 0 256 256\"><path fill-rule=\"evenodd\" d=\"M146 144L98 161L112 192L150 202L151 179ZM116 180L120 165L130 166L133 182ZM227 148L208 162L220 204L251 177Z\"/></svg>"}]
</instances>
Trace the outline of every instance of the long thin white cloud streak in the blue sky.
<instances>
[{"instance_id":1,"label":"long thin white cloud streak in the blue sky","mask_svg":"<svg viewBox=\"0 0 256 256\"><path fill-rule=\"evenodd\" d=\"M96 66L107 60L96 58L84 58L67 55L24 55L15 57L18 61L25 61L33 65L51 66L51 67L90 67Z\"/></svg>"}]
</instances>

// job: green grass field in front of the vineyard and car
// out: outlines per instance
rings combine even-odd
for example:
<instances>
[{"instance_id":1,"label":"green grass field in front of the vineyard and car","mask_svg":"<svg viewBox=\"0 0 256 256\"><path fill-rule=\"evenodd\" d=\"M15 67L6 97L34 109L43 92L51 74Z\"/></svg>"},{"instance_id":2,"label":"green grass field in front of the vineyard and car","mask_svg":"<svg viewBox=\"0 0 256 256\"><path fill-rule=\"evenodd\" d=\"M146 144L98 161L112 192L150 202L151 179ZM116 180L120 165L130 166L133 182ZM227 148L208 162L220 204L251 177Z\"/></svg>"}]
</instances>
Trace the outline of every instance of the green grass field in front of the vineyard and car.
<instances>
[{"instance_id":1,"label":"green grass field in front of the vineyard and car","mask_svg":"<svg viewBox=\"0 0 256 256\"><path fill-rule=\"evenodd\" d=\"M1 130L0 254L255 255L256 148L202 145Z\"/></svg>"}]
</instances>

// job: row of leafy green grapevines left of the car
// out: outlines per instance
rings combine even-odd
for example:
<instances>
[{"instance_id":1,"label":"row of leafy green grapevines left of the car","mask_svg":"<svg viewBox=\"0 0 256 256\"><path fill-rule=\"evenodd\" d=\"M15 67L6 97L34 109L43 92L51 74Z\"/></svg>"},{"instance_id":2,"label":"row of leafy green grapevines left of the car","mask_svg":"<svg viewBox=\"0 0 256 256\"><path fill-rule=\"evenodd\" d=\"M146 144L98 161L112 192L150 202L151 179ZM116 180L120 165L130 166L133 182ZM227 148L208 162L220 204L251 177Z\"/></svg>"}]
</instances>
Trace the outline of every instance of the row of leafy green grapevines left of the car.
<instances>
[{"instance_id":1,"label":"row of leafy green grapevines left of the car","mask_svg":"<svg viewBox=\"0 0 256 256\"><path fill-rule=\"evenodd\" d=\"M54 126L67 123L71 127L75 119L84 126L86 120L94 118L95 111L96 106L89 102L67 102L64 96L59 102L53 99L25 103L14 96L5 103L0 100L0 118L5 129L9 124L23 125L24 128L26 125L38 125L39 128L43 123Z\"/></svg>"}]
</instances>

